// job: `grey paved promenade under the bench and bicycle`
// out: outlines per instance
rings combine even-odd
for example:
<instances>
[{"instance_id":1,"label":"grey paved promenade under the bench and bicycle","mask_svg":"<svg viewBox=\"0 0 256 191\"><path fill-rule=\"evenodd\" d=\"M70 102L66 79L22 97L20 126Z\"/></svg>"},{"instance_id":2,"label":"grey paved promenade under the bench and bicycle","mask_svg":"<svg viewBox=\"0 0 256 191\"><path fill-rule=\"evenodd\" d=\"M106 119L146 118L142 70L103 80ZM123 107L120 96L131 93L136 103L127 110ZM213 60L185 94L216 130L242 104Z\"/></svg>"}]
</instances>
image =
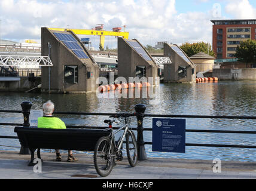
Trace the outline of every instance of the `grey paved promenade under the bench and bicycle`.
<instances>
[{"instance_id":1,"label":"grey paved promenade under the bench and bicycle","mask_svg":"<svg viewBox=\"0 0 256 191\"><path fill-rule=\"evenodd\" d=\"M221 161L219 168L213 161L148 158L130 167L126 158L117 165L107 177L100 177L93 164L93 155L76 153L77 162L69 163L62 152L62 162L56 162L55 153L41 153L41 172L28 167L30 155L17 152L0 151L1 179L255 179L256 162Z\"/></svg>"}]
</instances>

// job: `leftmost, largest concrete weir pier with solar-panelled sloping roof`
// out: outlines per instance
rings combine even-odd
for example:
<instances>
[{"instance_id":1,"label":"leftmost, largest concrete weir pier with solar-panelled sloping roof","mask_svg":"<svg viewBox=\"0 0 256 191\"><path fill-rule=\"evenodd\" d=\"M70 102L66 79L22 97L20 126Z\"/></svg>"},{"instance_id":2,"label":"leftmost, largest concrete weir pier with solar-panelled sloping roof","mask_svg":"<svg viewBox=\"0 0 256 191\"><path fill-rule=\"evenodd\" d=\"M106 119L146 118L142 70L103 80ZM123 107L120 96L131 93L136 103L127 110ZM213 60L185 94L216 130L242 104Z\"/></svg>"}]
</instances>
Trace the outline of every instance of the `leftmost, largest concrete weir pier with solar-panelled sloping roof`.
<instances>
[{"instance_id":1,"label":"leftmost, largest concrete weir pier with solar-panelled sloping roof","mask_svg":"<svg viewBox=\"0 0 256 191\"><path fill-rule=\"evenodd\" d=\"M43 93L87 93L97 88L99 66L71 30L41 28L41 54L49 55L53 66L42 68Z\"/></svg>"}]
</instances>

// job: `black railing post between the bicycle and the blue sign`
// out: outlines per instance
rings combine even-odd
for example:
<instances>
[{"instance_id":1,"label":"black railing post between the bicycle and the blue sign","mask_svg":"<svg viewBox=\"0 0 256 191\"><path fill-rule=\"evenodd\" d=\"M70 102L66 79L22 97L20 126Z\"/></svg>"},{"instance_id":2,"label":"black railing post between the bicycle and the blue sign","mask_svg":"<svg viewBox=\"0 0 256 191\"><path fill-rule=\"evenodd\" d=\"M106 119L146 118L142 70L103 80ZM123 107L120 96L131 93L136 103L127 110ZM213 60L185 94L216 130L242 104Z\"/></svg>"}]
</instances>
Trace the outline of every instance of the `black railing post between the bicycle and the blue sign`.
<instances>
[{"instance_id":1,"label":"black railing post between the bicycle and the blue sign","mask_svg":"<svg viewBox=\"0 0 256 191\"><path fill-rule=\"evenodd\" d=\"M145 142L143 138L143 118L146 106L144 104L136 104L135 106L135 114L137 117L138 122L138 129L137 129L137 144L138 144L138 160L144 161L147 160L147 153L145 152Z\"/></svg>"}]
</instances>

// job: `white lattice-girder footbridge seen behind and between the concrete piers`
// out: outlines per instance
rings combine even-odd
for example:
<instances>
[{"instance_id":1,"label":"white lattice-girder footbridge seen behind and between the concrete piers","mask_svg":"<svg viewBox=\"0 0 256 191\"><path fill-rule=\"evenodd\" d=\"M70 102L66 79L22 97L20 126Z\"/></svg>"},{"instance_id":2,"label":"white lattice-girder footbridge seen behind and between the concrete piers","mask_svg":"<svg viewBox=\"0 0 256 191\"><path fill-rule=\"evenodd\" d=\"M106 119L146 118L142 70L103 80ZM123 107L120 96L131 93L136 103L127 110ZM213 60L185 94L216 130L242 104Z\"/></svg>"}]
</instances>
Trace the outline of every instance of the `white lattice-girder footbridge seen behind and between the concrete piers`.
<instances>
[{"instance_id":1,"label":"white lattice-girder footbridge seen behind and between the concrete piers","mask_svg":"<svg viewBox=\"0 0 256 191\"><path fill-rule=\"evenodd\" d=\"M108 51L90 51L97 64L100 64L100 75L107 76L109 72L117 75L118 55ZM153 60L163 70L164 64L171 64L169 57L155 57ZM41 75L41 67L53 66L50 57L41 56L41 46L0 45L0 81L17 81L19 77ZM18 78L15 78L18 77Z\"/></svg>"}]
</instances>

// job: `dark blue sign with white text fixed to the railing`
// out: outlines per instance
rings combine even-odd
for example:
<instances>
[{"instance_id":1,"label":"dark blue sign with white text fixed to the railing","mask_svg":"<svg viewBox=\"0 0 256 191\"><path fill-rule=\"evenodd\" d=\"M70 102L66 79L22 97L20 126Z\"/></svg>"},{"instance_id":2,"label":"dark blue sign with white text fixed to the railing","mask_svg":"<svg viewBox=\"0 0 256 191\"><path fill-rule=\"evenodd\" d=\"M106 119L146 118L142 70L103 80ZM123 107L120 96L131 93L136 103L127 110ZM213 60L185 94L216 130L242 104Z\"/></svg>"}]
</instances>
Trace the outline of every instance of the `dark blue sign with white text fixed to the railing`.
<instances>
[{"instance_id":1,"label":"dark blue sign with white text fixed to the railing","mask_svg":"<svg viewBox=\"0 0 256 191\"><path fill-rule=\"evenodd\" d=\"M153 118L152 151L185 153L185 119Z\"/></svg>"}]
</instances>

